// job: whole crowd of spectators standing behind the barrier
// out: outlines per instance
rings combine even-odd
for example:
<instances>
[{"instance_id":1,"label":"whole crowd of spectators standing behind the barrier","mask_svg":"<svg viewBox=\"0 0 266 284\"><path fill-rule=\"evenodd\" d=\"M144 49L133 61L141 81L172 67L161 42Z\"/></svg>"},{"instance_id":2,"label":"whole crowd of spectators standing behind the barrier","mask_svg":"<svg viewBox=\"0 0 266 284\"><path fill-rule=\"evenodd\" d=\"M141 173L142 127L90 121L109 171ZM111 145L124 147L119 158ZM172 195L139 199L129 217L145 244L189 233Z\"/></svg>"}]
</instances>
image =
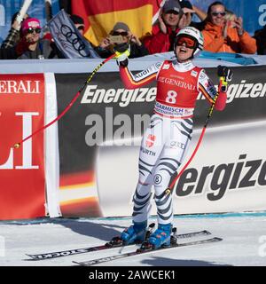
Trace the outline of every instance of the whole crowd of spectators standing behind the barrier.
<instances>
[{"instance_id":1,"label":"whole crowd of spectators standing behind the barrier","mask_svg":"<svg viewBox=\"0 0 266 284\"><path fill-rule=\"evenodd\" d=\"M40 20L26 14L20 22L19 13L12 17L12 26L0 48L0 59L61 59L64 55L50 32L43 29ZM195 18L198 18L197 21ZM84 40L84 20L69 15ZM107 58L113 46L129 43L130 57L174 50L176 33L184 27L198 28L204 37L204 51L246 54L266 54L266 26L249 35L243 19L226 9L220 1L208 6L207 12L187 0L166 0L153 24L152 33L142 38L135 36L126 22L117 22L98 44L92 46L98 57ZM92 45L90 43L90 45Z\"/></svg>"}]
</instances>

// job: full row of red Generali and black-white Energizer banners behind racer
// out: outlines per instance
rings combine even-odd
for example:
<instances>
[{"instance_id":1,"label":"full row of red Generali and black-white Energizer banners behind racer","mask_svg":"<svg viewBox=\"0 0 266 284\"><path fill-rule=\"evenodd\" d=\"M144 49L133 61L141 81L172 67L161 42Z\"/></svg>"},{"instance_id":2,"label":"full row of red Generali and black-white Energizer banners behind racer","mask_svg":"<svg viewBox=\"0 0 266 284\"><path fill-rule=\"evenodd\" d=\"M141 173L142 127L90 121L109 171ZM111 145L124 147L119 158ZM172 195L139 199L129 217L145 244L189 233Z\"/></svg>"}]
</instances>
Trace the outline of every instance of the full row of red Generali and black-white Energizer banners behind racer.
<instances>
[{"instance_id":1,"label":"full row of red Generali and black-white Energizer banners behind racer","mask_svg":"<svg viewBox=\"0 0 266 284\"><path fill-rule=\"evenodd\" d=\"M117 70L115 60L110 67ZM199 151L176 181L175 214L266 209L266 67L232 71L227 106L214 112ZM216 68L207 74L217 83ZM153 157L160 143L154 133L140 146L154 111L155 83L127 90L117 71L99 72L58 125L14 146L56 119L87 77L0 75L0 219L131 215L138 155ZM191 147L179 170L206 122L207 100L199 95L197 105ZM184 148L178 140L170 146ZM153 182L160 180L159 174Z\"/></svg>"}]
</instances>

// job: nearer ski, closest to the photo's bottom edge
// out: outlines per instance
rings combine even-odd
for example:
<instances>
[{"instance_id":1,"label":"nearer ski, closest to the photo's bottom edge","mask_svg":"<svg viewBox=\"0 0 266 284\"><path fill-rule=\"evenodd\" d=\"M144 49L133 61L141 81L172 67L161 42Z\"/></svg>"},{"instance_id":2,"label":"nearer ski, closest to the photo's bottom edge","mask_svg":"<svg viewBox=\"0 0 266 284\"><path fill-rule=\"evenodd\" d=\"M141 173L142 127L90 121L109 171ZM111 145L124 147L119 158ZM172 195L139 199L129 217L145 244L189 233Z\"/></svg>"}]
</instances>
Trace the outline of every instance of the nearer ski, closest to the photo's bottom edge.
<instances>
[{"instance_id":1,"label":"nearer ski, closest to the photo's bottom edge","mask_svg":"<svg viewBox=\"0 0 266 284\"><path fill-rule=\"evenodd\" d=\"M81 266L90 266L94 264L102 264L102 263L107 263L116 259L121 259L129 256L139 256L139 255L144 255L147 253L153 253L153 252L158 252L170 248L183 248L187 246L194 246L194 245L200 245L200 244L205 244L205 243L211 243L215 241L223 241L221 238L211 238L211 239L205 239L205 240L200 240L200 241L188 241L184 243L176 243L176 244L171 244L169 247L160 247L160 248L153 248L150 250L141 250L140 248L137 248L135 251L127 252L124 254L118 254L114 256L107 256L107 257L102 257L102 258L97 258L97 259L92 259L89 261L84 261L84 262L78 262L78 261L73 261L74 264L79 264Z\"/></svg>"}]
</instances>

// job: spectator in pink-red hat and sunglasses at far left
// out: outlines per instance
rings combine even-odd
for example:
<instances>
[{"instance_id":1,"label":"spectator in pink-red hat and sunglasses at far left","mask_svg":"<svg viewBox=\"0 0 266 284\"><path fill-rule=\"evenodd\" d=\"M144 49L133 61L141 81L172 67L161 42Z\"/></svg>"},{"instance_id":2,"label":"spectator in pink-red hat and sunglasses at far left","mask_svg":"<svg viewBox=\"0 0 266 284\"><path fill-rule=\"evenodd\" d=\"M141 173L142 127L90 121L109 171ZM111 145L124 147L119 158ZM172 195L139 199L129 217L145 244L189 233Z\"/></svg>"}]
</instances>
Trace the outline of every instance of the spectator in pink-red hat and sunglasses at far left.
<instances>
[{"instance_id":1,"label":"spectator in pink-red hat and sunglasses at far left","mask_svg":"<svg viewBox=\"0 0 266 284\"><path fill-rule=\"evenodd\" d=\"M18 59L51 59L57 58L52 47L51 41L41 39L42 27L36 18L27 18L21 25L21 39L17 48L24 52Z\"/></svg>"}]
</instances>

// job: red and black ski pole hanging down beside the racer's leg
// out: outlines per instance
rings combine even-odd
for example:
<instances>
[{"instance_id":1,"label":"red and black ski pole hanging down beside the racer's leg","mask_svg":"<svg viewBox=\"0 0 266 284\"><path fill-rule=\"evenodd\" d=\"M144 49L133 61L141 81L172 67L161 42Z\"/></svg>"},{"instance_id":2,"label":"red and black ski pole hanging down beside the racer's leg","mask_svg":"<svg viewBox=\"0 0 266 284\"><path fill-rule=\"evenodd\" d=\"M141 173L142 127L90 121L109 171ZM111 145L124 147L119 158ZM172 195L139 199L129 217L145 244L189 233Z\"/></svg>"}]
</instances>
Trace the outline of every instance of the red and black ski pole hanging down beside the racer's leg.
<instances>
[{"instance_id":1,"label":"red and black ski pole hanging down beside the racer's leg","mask_svg":"<svg viewBox=\"0 0 266 284\"><path fill-rule=\"evenodd\" d=\"M223 80L223 79L222 79L222 80ZM203 126L203 129L201 130L199 141L198 141L198 143L197 143L197 145L196 145L196 147L195 147L195 149L194 149L194 151L193 151L193 153L192 153L190 159L188 160L188 162L185 163L183 169L180 170L179 174L174 178L174 180L171 182L171 184L170 184L170 185L168 186L168 188L165 190L165 194L166 194L166 195L172 193L173 188L174 188L174 185L176 184L177 179L182 176L182 174L184 173L184 170L185 170L185 169L188 167L188 165L192 162L192 160L193 160L195 154L198 152L199 147L200 147L200 143L201 143L201 141L202 141L202 139L203 139L203 137L204 137L205 131L206 131L206 129L207 129L207 123L208 123L210 117L211 117L212 114L213 114L213 111L214 111L214 108L215 108L215 101L216 101L216 99L218 98L218 95L219 95L219 93L217 92L216 95L215 95L214 101L212 102L212 105L210 106L210 108L209 108L209 110L208 110L208 112L207 112L207 120L206 120L206 122L205 122L205 124L204 124L204 126Z\"/></svg>"}]
</instances>

